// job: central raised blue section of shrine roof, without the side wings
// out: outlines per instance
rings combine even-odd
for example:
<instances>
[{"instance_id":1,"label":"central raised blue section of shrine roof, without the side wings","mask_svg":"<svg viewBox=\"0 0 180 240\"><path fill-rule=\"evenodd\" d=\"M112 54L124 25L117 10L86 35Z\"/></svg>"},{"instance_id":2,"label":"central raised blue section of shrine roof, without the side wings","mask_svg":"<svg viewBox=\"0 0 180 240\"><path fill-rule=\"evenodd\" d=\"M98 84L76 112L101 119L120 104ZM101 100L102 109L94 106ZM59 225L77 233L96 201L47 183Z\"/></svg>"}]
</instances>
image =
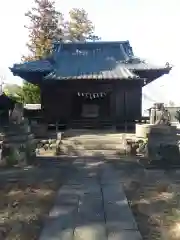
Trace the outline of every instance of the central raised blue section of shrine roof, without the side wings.
<instances>
[{"instance_id":1,"label":"central raised blue section of shrine roof, without the side wings","mask_svg":"<svg viewBox=\"0 0 180 240\"><path fill-rule=\"evenodd\" d=\"M45 79L138 78L121 65L130 55L128 41L62 44L55 52L55 70Z\"/></svg>"}]
</instances>

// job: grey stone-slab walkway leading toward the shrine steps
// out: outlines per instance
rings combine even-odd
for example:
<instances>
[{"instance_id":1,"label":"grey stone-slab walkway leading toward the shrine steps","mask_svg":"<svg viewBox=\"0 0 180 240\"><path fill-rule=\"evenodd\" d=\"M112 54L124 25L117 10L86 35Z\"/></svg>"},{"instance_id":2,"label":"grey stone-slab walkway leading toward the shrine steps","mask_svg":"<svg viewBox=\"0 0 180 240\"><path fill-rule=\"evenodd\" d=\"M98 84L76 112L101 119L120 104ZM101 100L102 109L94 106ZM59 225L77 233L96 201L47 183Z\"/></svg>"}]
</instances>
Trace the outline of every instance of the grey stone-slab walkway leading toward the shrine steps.
<instances>
[{"instance_id":1,"label":"grey stone-slab walkway leading toward the shrine steps","mask_svg":"<svg viewBox=\"0 0 180 240\"><path fill-rule=\"evenodd\" d=\"M75 173L58 192L40 240L142 240L111 165L76 160Z\"/></svg>"}]
</instances>

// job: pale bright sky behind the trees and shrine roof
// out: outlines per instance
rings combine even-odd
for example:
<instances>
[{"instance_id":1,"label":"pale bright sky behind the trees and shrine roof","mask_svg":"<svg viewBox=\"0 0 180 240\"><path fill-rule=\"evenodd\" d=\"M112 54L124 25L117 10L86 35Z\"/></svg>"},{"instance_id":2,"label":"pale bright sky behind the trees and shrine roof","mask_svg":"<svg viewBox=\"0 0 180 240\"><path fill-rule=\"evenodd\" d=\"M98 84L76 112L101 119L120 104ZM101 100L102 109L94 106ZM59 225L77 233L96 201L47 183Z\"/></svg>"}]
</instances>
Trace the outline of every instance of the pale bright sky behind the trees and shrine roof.
<instances>
[{"instance_id":1,"label":"pale bright sky behind the trees and shrine roof","mask_svg":"<svg viewBox=\"0 0 180 240\"><path fill-rule=\"evenodd\" d=\"M33 0L6 0L0 8L0 76L10 83L21 82L8 67L27 51L24 13L32 5ZM179 0L57 0L56 5L65 16L73 7L85 8L102 40L129 40L137 56L152 63L175 65L168 76L144 91L156 101L180 103Z\"/></svg>"}]
</instances>

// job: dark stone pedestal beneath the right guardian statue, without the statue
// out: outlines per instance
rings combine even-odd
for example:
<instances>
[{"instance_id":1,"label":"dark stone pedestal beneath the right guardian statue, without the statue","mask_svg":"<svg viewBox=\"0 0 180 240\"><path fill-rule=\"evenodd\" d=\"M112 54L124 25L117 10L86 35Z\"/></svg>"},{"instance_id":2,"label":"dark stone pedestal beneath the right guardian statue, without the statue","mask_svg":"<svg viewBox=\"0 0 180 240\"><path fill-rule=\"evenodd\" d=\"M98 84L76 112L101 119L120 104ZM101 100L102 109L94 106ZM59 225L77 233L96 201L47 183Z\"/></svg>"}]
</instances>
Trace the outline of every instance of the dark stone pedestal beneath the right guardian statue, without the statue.
<instances>
[{"instance_id":1,"label":"dark stone pedestal beneath the right guardian statue, without the statue","mask_svg":"<svg viewBox=\"0 0 180 240\"><path fill-rule=\"evenodd\" d=\"M150 162L180 164L176 126L137 124L136 138L147 139L145 157Z\"/></svg>"}]
</instances>

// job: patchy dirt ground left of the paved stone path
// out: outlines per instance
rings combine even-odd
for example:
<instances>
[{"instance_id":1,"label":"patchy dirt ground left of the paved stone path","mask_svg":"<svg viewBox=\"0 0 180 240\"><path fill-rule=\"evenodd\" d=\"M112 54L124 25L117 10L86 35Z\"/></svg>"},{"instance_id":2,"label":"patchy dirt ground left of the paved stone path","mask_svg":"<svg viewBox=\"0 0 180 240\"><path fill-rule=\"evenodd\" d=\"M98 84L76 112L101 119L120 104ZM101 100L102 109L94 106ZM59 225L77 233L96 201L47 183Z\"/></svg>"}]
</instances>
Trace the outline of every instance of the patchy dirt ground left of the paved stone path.
<instances>
[{"instance_id":1,"label":"patchy dirt ground left of the paved stone path","mask_svg":"<svg viewBox=\"0 0 180 240\"><path fill-rule=\"evenodd\" d=\"M44 166L29 170L1 171L0 239L38 239L56 191L66 177L66 167L47 160Z\"/></svg>"}]
</instances>

